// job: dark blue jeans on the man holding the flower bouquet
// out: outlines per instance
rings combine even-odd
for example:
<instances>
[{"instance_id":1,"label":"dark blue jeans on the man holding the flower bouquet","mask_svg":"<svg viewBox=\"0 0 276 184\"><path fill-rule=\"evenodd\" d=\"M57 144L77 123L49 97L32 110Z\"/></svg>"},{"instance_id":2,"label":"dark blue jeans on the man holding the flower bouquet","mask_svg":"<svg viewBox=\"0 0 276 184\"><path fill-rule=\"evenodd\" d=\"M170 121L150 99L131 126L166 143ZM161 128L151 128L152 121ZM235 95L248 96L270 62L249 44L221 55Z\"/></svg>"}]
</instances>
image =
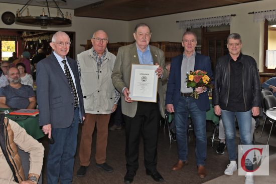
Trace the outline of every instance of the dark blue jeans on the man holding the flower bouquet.
<instances>
[{"instance_id":1,"label":"dark blue jeans on the man holding the flower bouquet","mask_svg":"<svg viewBox=\"0 0 276 184\"><path fill-rule=\"evenodd\" d=\"M191 115L196 136L197 165L205 165L207 139L206 139L206 112L201 111L192 97L180 97L175 109L176 139L178 159L187 160L188 156L188 118Z\"/></svg>"}]
</instances>

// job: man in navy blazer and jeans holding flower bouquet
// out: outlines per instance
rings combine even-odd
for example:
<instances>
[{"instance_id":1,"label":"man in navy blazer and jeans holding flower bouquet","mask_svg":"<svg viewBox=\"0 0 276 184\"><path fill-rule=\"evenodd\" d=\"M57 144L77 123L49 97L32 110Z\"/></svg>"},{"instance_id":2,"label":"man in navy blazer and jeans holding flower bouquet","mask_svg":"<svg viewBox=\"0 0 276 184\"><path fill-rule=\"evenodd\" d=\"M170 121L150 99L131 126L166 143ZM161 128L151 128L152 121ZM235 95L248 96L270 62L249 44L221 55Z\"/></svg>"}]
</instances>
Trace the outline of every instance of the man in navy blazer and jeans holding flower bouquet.
<instances>
[{"instance_id":1,"label":"man in navy blazer and jeans holding flower bouquet","mask_svg":"<svg viewBox=\"0 0 276 184\"><path fill-rule=\"evenodd\" d=\"M206 176L205 159L207 150L206 140L206 110L210 108L206 87L187 88L187 73L203 70L212 77L211 61L207 56L195 52L196 34L185 32L182 37L184 54L172 59L171 71L166 92L166 109L175 113L176 139L178 146L178 162L172 170L179 170L188 164L187 122L189 114L194 123L196 136L196 158L199 177ZM195 90L198 99L190 95Z\"/></svg>"}]
</instances>

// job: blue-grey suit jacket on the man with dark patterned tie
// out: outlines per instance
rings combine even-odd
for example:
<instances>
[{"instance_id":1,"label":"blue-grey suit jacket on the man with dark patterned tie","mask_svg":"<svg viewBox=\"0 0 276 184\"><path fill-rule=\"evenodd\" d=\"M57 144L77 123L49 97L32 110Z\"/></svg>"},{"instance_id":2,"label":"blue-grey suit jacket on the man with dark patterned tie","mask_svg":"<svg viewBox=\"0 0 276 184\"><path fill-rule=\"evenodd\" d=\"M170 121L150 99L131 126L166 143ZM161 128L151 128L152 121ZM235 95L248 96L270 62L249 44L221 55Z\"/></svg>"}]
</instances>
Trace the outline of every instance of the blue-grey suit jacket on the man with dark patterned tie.
<instances>
[{"instance_id":1,"label":"blue-grey suit jacket on the man with dark patterned tie","mask_svg":"<svg viewBox=\"0 0 276 184\"><path fill-rule=\"evenodd\" d=\"M75 77L82 121L83 96L77 62L69 57L67 61ZM51 124L52 128L69 127L74 117L74 94L54 54L38 62L36 83L40 126Z\"/></svg>"}]
</instances>

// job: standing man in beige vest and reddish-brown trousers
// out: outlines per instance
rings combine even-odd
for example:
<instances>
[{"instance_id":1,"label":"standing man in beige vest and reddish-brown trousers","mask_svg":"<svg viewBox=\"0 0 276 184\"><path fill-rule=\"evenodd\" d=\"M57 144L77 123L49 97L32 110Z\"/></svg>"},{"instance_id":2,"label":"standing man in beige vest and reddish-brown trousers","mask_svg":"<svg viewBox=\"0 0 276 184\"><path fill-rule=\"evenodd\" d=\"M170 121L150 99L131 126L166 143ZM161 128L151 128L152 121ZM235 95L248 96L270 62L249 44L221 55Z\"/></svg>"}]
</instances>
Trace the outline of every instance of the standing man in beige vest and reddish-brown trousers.
<instances>
[{"instance_id":1,"label":"standing man in beige vest and reddish-brown trousers","mask_svg":"<svg viewBox=\"0 0 276 184\"><path fill-rule=\"evenodd\" d=\"M77 176L84 176L90 164L95 125L97 126L96 166L107 172L113 171L113 168L106 163L106 146L110 114L116 110L120 98L111 80L116 56L107 51L108 36L103 30L96 31L91 42L93 47L77 56L85 109L79 151L80 168Z\"/></svg>"}]
</instances>

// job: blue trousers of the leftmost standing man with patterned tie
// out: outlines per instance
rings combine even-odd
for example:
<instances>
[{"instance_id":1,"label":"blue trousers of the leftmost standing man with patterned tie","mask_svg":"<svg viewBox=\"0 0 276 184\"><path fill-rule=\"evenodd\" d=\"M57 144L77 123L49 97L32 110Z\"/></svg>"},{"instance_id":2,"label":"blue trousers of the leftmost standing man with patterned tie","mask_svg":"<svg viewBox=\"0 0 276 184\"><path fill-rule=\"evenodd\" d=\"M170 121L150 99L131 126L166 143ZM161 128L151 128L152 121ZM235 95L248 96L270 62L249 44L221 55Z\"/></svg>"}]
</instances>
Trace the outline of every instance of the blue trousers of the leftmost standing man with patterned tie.
<instances>
[{"instance_id":1,"label":"blue trousers of the leftmost standing man with patterned tie","mask_svg":"<svg viewBox=\"0 0 276 184\"><path fill-rule=\"evenodd\" d=\"M76 108L71 126L68 128L52 128L55 143L49 144L48 184L57 184L59 179L60 184L72 183L79 120L79 110Z\"/></svg>"}]
</instances>

